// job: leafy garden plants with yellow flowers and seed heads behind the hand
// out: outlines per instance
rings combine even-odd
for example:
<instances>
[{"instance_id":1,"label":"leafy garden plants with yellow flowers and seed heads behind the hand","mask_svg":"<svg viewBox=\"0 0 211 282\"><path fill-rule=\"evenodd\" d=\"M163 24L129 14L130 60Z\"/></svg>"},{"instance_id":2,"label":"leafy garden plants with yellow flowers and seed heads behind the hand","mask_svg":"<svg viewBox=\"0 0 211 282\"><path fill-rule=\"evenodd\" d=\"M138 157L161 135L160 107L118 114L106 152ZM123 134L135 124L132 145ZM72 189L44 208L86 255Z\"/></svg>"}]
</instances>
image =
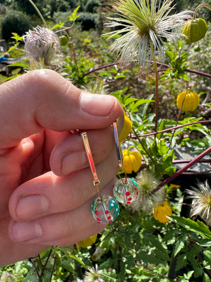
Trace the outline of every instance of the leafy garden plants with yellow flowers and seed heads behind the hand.
<instances>
[{"instance_id":1,"label":"leafy garden plants with yellow flowers and seed heads behind the hand","mask_svg":"<svg viewBox=\"0 0 211 282\"><path fill-rule=\"evenodd\" d=\"M12 66L115 96L120 177L139 193L101 234L3 266L1 281L211 281L210 3L178 12L171 0L79 1L53 23L28 1L42 23L13 33L8 52L26 58Z\"/></svg>"}]
</instances>

